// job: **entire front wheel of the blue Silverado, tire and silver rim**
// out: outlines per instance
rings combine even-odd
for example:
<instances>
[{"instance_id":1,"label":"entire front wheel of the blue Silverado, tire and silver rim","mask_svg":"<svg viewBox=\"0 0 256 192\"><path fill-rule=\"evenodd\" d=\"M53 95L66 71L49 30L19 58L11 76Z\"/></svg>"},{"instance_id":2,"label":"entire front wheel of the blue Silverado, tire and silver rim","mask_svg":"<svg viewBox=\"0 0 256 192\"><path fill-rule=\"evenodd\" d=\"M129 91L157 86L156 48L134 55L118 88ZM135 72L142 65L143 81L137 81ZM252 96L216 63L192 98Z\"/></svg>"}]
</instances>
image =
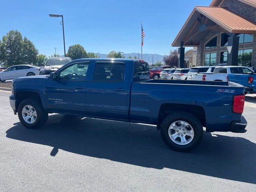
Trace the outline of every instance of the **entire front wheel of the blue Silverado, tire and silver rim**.
<instances>
[{"instance_id":1,"label":"entire front wheel of the blue Silverado, tire and silver rim","mask_svg":"<svg viewBox=\"0 0 256 192\"><path fill-rule=\"evenodd\" d=\"M40 101L28 98L20 102L18 117L26 128L35 129L40 128L46 123L48 113L44 110Z\"/></svg>"}]
</instances>

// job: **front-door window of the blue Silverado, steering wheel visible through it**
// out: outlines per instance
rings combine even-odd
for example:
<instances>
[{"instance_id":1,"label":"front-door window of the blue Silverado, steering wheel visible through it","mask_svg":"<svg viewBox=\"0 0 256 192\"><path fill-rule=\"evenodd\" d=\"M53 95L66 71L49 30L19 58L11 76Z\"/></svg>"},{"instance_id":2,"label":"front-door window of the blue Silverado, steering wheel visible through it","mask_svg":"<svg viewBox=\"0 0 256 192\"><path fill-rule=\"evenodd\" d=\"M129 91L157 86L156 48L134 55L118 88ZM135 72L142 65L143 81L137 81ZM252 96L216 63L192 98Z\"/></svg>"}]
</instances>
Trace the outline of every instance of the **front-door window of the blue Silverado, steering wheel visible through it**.
<instances>
[{"instance_id":1,"label":"front-door window of the blue Silverado, steering wheel visible through it","mask_svg":"<svg viewBox=\"0 0 256 192\"><path fill-rule=\"evenodd\" d=\"M89 62L76 63L60 72L60 80L85 81Z\"/></svg>"}]
</instances>

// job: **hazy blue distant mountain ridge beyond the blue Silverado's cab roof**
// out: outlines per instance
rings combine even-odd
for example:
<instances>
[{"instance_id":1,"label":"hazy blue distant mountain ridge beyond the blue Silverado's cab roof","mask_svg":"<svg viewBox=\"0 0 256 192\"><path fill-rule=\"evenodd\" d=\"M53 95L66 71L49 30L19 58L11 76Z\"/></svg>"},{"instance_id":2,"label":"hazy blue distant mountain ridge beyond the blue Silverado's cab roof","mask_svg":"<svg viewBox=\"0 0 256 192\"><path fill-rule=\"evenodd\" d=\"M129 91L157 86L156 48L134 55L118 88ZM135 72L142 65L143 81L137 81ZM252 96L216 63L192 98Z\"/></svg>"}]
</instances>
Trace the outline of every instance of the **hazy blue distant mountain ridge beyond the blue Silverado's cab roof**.
<instances>
[{"instance_id":1,"label":"hazy blue distant mountain ridge beyond the blue Silverado's cab roof","mask_svg":"<svg viewBox=\"0 0 256 192\"><path fill-rule=\"evenodd\" d=\"M98 53L95 53L96 55L99 55ZM100 54L100 58L106 58L108 54ZM125 58L128 58L128 56L139 56L139 53L122 53L122 55ZM152 60L153 60L153 56L154 56L154 63L160 61L163 62L163 55L158 55L158 54L143 54L143 60L148 62L148 64L152 64ZM140 59L141 59L141 54L140 54Z\"/></svg>"}]
</instances>

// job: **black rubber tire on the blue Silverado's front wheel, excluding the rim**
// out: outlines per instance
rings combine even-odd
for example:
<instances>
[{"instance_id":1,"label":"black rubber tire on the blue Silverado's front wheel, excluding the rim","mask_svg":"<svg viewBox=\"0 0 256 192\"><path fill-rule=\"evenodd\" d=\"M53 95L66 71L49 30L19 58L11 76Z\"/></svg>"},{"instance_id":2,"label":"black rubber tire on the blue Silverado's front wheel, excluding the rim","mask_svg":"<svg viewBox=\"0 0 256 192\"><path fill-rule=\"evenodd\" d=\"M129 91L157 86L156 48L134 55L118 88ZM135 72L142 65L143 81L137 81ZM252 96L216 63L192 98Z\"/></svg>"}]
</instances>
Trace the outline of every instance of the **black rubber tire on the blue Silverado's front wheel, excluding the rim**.
<instances>
[{"instance_id":1,"label":"black rubber tire on the blue Silverado's front wheel, excluding the rim","mask_svg":"<svg viewBox=\"0 0 256 192\"><path fill-rule=\"evenodd\" d=\"M22 109L26 105L30 105L36 110L37 116L34 123L27 123L22 117ZM48 112L44 110L42 103L39 100L34 98L28 98L20 102L18 106L18 117L22 125L24 125L26 128L36 129L40 128L46 123L46 121L48 120Z\"/></svg>"}]
</instances>

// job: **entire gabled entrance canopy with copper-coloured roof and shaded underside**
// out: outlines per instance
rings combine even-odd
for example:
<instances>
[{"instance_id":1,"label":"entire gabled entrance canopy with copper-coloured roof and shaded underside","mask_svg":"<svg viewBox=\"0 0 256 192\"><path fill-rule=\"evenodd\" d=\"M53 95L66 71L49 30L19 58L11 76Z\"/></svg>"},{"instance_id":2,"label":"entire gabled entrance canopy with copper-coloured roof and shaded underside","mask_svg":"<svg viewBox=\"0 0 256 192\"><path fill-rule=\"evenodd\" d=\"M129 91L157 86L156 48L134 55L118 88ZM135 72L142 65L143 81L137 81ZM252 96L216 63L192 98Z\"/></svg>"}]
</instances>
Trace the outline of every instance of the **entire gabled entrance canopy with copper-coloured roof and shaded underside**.
<instances>
[{"instance_id":1,"label":"entire gabled entrance canopy with copper-coloured roof and shaded underside","mask_svg":"<svg viewBox=\"0 0 256 192\"><path fill-rule=\"evenodd\" d=\"M228 8L196 6L172 46L198 46L210 30L256 34L256 23Z\"/></svg>"}]
</instances>

